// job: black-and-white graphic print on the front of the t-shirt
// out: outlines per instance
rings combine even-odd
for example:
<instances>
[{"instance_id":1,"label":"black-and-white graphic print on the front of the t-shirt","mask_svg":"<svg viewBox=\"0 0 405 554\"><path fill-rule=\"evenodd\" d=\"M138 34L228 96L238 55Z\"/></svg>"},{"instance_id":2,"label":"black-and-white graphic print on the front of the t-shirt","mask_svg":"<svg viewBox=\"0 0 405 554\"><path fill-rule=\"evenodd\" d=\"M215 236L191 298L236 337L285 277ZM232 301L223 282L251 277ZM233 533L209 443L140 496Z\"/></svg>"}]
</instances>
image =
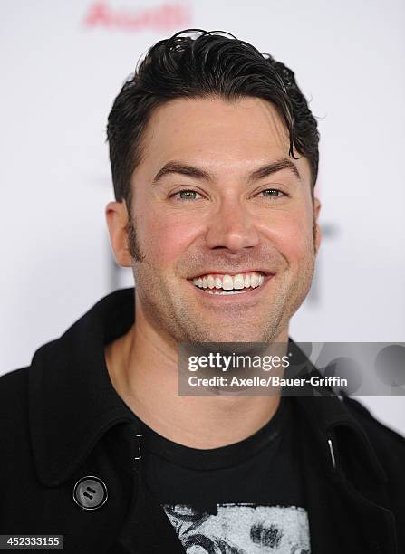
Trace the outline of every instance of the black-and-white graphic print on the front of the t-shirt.
<instances>
[{"instance_id":1,"label":"black-and-white graphic print on the front of the t-shirt","mask_svg":"<svg viewBox=\"0 0 405 554\"><path fill-rule=\"evenodd\" d=\"M295 506L217 504L217 513L163 506L187 554L309 554L308 515Z\"/></svg>"}]
</instances>

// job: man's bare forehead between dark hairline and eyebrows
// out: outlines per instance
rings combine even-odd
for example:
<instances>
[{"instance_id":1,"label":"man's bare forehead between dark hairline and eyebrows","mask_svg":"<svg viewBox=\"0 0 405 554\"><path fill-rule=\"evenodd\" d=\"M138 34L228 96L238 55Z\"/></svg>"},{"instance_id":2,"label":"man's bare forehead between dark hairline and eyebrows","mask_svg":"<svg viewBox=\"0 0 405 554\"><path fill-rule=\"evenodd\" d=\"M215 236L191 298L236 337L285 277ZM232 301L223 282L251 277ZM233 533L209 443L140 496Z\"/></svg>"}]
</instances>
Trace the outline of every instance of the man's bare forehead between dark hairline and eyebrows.
<instances>
[{"instance_id":1,"label":"man's bare forehead between dark hairline and eyebrows","mask_svg":"<svg viewBox=\"0 0 405 554\"><path fill-rule=\"evenodd\" d=\"M288 130L270 102L176 99L153 110L142 140L140 166L155 170L176 159L209 165L211 171L246 171L288 157L288 152ZM291 159L309 178L307 160Z\"/></svg>"}]
</instances>

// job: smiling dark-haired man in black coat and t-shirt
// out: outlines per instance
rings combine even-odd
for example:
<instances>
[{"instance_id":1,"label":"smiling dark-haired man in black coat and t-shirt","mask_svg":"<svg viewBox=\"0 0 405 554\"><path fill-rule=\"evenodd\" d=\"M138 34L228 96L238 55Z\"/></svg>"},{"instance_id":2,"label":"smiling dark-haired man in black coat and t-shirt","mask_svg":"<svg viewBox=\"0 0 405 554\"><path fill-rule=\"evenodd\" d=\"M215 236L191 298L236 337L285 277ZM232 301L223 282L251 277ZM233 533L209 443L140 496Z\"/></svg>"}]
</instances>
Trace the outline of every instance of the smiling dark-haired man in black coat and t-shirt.
<instances>
[{"instance_id":1,"label":"smiling dark-haired man in black coat and t-shirt","mask_svg":"<svg viewBox=\"0 0 405 554\"><path fill-rule=\"evenodd\" d=\"M177 33L108 139L111 245L136 287L2 377L1 532L67 552L403 552L405 444L362 405L178 396L180 343L286 349L309 291L319 135L294 73Z\"/></svg>"}]
</instances>

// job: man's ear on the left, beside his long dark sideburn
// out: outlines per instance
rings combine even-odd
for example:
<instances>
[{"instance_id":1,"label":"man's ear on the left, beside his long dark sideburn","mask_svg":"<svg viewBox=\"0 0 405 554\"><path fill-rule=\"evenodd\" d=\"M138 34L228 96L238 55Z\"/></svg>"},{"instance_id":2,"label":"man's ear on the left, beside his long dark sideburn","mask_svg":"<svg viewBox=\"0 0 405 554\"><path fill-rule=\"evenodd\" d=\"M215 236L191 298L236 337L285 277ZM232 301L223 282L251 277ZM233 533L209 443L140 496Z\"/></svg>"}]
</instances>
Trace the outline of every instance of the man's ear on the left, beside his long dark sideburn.
<instances>
[{"instance_id":1,"label":"man's ear on the left, beside his long dark sideburn","mask_svg":"<svg viewBox=\"0 0 405 554\"><path fill-rule=\"evenodd\" d=\"M115 261L118 265L130 267L127 205L124 201L109 202L105 208L105 217L109 228L110 242Z\"/></svg>"}]
</instances>

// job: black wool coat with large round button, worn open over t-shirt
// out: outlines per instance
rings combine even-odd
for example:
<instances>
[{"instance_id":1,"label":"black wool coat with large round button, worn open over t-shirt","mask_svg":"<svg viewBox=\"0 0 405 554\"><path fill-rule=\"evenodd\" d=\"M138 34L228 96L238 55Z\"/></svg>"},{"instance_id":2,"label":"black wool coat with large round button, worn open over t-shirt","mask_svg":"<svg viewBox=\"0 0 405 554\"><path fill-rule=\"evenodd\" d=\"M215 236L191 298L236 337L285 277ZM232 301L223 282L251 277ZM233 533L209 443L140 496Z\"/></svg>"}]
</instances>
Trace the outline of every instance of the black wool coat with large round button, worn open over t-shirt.
<instances>
[{"instance_id":1,"label":"black wool coat with large round button, worn open over t-shirt","mask_svg":"<svg viewBox=\"0 0 405 554\"><path fill-rule=\"evenodd\" d=\"M133 289L112 293L0 377L0 534L63 535L66 554L184 552L144 486L139 420L105 365L133 307ZM313 392L294 397L311 552L404 554L405 439L359 402ZM106 487L99 508L76 501L85 477Z\"/></svg>"}]
</instances>

